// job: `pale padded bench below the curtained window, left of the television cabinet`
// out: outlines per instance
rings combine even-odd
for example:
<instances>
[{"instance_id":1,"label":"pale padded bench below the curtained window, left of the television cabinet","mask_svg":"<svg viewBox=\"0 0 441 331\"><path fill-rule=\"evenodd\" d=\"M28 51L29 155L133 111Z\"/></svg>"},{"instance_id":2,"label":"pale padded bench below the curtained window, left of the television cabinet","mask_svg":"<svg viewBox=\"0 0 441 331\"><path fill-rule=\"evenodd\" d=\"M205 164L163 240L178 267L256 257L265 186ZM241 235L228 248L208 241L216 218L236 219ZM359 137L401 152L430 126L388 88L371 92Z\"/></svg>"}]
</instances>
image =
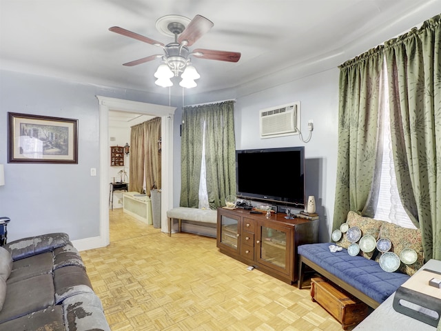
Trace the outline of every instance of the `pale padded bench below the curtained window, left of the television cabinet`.
<instances>
[{"instance_id":1,"label":"pale padded bench below the curtained window, left of the television cabinet","mask_svg":"<svg viewBox=\"0 0 441 331\"><path fill-rule=\"evenodd\" d=\"M201 223L217 223L218 212L211 209L198 209L188 207L177 207L167 210L168 219L168 235L172 236L172 220L177 219L179 221L179 232L181 232L181 221L194 221Z\"/></svg>"}]
</instances>

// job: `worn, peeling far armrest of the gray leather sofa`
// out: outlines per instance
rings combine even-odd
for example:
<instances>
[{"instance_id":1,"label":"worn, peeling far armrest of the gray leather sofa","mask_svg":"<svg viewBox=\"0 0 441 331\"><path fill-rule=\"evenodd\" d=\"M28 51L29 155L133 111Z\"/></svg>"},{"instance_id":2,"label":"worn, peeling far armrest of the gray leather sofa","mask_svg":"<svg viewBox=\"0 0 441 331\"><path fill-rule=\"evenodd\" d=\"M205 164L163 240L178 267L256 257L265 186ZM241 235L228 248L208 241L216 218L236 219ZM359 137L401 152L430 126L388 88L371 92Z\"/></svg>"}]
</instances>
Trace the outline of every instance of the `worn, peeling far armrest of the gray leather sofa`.
<instances>
[{"instance_id":1,"label":"worn, peeling far armrest of the gray leather sofa","mask_svg":"<svg viewBox=\"0 0 441 331\"><path fill-rule=\"evenodd\" d=\"M3 248L6 248L11 253L12 260L16 261L42 252L50 252L67 243L69 243L68 234L57 232L11 241Z\"/></svg>"}]
</instances>

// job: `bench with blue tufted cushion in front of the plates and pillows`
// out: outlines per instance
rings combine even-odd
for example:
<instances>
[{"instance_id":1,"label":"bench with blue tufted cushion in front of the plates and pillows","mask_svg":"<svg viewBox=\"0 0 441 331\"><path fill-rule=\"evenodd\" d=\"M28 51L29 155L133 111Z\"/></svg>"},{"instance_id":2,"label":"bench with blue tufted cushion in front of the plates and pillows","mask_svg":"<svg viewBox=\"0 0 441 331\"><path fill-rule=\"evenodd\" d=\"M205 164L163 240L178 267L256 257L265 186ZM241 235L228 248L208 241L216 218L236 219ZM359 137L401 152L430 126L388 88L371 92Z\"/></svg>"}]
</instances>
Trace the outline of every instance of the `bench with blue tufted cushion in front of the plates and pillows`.
<instances>
[{"instance_id":1,"label":"bench with blue tufted cushion in front of the plates and pillows","mask_svg":"<svg viewBox=\"0 0 441 331\"><path fill-rule=\"evenodd\" d=\"M305 265L308 265L375 309L409 279L407 274L382 270L376 261L361 256L352 257L345 248L340 252L330 252L329 245L333 243L298 246L299 289L302 288Z\"/></svg>"}]
</instances>

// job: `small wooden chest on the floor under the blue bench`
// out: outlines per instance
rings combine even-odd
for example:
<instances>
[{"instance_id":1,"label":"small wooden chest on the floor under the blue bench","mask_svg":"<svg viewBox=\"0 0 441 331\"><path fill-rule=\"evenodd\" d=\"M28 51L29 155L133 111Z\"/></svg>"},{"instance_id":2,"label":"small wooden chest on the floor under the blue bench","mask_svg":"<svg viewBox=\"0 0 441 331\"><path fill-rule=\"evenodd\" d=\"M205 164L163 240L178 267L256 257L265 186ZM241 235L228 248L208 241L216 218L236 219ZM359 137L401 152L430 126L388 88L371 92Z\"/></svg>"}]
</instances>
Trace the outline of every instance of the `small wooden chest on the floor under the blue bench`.
<instances>
[{"instance_id":1,"label":"small wooden chest on the floor under the blue bench","mask_svg":"<svg viewBox=\"0 0 441 331\"><path fill-rule=\"evenodd\" d=\"M360 323L368 314L366 303L349 296L334 284L319 277L311 278L311 299L320 304L346 330Z\"/></svg>"}]
</instances>

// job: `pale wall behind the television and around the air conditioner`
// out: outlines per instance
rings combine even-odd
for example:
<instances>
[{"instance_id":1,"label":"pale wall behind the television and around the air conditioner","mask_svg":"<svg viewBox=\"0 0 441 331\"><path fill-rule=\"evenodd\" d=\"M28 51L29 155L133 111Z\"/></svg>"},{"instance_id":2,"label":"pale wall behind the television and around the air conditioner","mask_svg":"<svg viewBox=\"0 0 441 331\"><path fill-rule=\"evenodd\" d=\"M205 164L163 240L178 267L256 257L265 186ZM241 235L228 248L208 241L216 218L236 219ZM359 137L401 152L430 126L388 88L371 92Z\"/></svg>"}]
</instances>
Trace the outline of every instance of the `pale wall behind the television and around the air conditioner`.
<instances>
[{"instance_id":1,"label":"pale wall behind the television and around the air conditioner","mask_svg":"<svg viewBox=\"0 0 441 331\"><path fill-rule=\"evenodd\" d=\"M212 94L187 97L186 105L236 99L234 105L234 126L236 150L252 148L278 148L305 146L305 195L314 195L316 210L320 214L320 241L329 241L334 213L334 197L337 165L338 134L338 68L311 74L302 79L283 83L252 94L237 96L234 90L223 90ZM300 141L298 135L260 139L259 110L300 101L300 130L308 137L307 123L314 120L314 131L309 143ZM181 182L180 155L182 111L175 112L175 160L174 204L179 204ZM277 177L277 174L265 174Z\"/></svg>"}]
</instances>

